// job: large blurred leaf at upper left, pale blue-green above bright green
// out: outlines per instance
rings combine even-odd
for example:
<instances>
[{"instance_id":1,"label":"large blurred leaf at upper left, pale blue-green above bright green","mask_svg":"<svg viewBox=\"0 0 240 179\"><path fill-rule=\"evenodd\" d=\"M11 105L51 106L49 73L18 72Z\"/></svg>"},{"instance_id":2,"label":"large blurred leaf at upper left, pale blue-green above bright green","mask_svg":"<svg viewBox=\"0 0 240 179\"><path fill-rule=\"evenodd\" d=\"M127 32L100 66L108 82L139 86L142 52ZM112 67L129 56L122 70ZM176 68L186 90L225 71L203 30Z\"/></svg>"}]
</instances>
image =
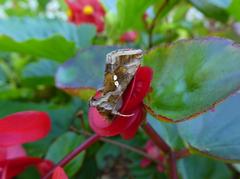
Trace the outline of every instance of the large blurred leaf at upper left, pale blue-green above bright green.
<instances>
[{"instance_id":1,"label":"large blurred leaf at upper left, pale blue-green above bright green","mask_svg":"<svg viewBox=\"0 0 240 179\"><path fill-rule=\"evenodd\" d=\"M44 18L0 20L0 50L63 61L91 44L95 28Z\"/></svg>"}]
</instances>

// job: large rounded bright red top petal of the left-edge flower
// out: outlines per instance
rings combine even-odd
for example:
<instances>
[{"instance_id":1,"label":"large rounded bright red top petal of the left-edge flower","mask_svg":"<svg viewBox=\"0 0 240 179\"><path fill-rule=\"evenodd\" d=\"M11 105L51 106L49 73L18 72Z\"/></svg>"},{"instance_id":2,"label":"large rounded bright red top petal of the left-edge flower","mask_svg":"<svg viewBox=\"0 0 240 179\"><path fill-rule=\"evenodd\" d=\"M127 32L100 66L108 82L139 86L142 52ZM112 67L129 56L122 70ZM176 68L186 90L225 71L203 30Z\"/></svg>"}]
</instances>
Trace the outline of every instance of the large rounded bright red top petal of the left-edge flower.
<instances>
[{"instance_id":1,"label":"large rounded bright red top petal of the left-edge flower","mask_svg":"<svg viewBox=\"0 0 240 179\"><path fill-rule=\"evenodd\" d=\"M45 137L51 129L49 116L44 112L26 111L0 120L0 147L34 142Z\"/></svg>"}]
</instances>

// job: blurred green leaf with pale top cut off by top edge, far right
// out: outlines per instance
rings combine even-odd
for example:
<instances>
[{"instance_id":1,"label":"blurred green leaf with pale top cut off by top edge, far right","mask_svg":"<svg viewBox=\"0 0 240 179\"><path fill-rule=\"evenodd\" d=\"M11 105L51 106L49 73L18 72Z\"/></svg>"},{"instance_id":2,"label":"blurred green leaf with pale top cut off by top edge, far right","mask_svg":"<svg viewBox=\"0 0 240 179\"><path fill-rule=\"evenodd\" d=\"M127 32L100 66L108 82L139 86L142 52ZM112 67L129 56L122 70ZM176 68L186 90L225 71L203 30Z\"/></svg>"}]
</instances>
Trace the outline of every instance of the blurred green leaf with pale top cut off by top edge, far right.
<instances>
[{"instance_id":1,"label":"blurred green leaf with pale top cut off by top edge, far right","mask_svg":"<svg viewBox=\"0 0 240 179\"><path fill-rule=\"evenodd\" d=\"M228 19L227 8L231 0L189 0L197 9L207 17L226 22Z\"/></svg>"}]
</instances>

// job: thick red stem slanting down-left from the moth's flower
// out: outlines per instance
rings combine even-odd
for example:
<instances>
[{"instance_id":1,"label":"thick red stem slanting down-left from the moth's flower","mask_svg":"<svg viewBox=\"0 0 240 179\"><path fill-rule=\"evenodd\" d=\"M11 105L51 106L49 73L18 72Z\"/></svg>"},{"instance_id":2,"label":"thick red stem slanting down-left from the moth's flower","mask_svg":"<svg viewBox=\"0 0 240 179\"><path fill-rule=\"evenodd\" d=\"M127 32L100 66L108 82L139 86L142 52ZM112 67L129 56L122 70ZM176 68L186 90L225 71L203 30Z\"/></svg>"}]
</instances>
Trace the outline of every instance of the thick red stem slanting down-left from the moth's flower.
<instances>
[{"instance_id":1,"label":"thick red stem slanting down-left from the moth's flower","mask_svg":"<svg viewBox=\"0 0 240 179\"><path fill-rule=\"evenodd\" d=\"M52 173L54 172L54 170L57 167L64 167L65 165L67 165L72 159L74 159L78 154L80 154L82 151L86 150L88 147L90 147L92 144L94 144L95 142L97 142L99 139L101 138L101 136L94 134L91 137L89 137L84 143L82 143L81 145L79 145L77 148L75 148L70 154L68 154L66 157L64 157L58 164L56 164L53 169L50 170L50 172L47 173L47 175L45 175L43 177L43 179L49 179L52 175ZM61 149L60 149L61 150Z\"/></svg>"}]
</instances>

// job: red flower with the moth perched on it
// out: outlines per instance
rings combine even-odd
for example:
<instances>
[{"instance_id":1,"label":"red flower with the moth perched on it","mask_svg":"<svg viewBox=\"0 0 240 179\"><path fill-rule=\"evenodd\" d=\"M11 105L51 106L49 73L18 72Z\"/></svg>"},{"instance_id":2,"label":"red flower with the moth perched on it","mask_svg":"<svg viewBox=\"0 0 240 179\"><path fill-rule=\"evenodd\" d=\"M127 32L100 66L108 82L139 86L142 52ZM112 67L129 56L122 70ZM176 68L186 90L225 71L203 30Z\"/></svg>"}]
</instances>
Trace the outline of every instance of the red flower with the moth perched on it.
<instances>
[{"instance_id":1,"label":"red flower with the moth perched on it","mask_svg":"<svg viewBox=\"0 0 240 179\"><path fill-rule=\"evenodd\" d=\"M120 134L124 139L134 137L139 125L145 119L143 99L149 91L152 70L149 67L139 67L131 84L123 94L122 114L134 114L131 117L117 116L112 122L106 120L96 107L88 111L91 128L101 136Z\"/></svg>"}]
</instances>

